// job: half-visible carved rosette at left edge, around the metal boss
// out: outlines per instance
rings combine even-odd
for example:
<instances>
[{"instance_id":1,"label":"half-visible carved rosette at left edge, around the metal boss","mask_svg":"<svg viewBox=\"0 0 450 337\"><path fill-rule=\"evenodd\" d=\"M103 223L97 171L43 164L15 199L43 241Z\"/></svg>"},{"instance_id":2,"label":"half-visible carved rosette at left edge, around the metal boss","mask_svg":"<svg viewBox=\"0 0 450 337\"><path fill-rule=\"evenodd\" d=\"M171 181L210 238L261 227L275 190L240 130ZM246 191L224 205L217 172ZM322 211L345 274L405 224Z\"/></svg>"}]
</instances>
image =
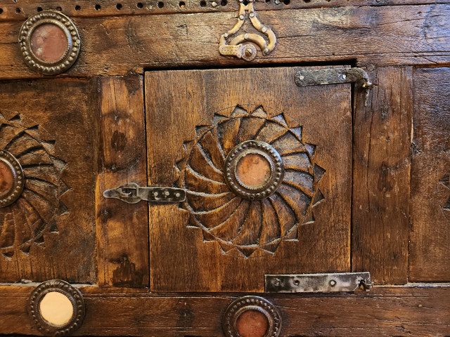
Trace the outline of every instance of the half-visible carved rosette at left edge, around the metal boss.
<instances>
[{"instance_id":1,"label":"half-visible carved rosette at left edge, around the metal boss","mask_svg":"<svg viewBox=\"0 0 450 337\"><path fill-rule=\"evenodd\" d=\"M12 258L28 255L33 244L43 246L46 233L58 233L58 218L68 213L60 197L70 188L61 179L65 162L55 157L55 141L36 123L0 112L0 149L17 160L25 177L18 199L0 208L0 253Z\"/></svg>"}]
</instances>

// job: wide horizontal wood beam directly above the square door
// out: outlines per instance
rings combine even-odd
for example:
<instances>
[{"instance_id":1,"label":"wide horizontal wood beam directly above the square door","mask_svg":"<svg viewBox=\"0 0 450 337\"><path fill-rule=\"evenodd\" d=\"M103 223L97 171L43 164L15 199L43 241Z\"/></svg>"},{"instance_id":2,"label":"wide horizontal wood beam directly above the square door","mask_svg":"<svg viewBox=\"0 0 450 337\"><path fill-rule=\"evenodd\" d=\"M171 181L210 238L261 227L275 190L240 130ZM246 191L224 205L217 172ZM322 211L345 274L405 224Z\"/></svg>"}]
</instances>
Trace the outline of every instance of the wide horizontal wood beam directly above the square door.
<instances>
[{"instance_id":1,"label":"wide horizontal wood beam directly above the square door","mask_svg":"<svg viewBox=\"0 0 450 337\"><path fill-rule=\"evenodd\" d=\"M252 63L219 55L219 37L236 24L235 12L75 18L82 36L79 60L62 76L127 74L143 67L259 65L373 58L383 65L449 62L450 4L344 6L260 11L276 49ZM23 62L20 21L0 26L0 79L40 77ZM368 62L368 60L364 60Z\"/></svg>"}]
</instances>

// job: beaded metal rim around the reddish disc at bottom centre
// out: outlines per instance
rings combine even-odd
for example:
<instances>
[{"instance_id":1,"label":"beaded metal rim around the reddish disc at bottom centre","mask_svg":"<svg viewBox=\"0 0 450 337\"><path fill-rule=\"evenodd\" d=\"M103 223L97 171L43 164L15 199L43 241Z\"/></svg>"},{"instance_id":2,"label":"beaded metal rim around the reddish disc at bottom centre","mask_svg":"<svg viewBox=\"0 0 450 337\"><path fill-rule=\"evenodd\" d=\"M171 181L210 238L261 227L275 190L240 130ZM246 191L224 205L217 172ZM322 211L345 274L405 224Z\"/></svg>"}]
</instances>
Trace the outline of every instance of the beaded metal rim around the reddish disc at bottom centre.
<instances>
[{"instance_id":1,"label":"beaded metal rim around the reddish disc at bottom centre","mask_svg":"<svg viewBox=\"0 0 450 337\"><path fill-rule=\"evenodd\" d=\"M226 337L240 337L236 322L240 315L249 310L261 312L269 322L269 327L264 337L277 337L281 331L281 316L274 307L265 298L259 296L244 296L234 300L226 308L224 318L222 319L222 329Z\"/></svg>"}]
</instances>

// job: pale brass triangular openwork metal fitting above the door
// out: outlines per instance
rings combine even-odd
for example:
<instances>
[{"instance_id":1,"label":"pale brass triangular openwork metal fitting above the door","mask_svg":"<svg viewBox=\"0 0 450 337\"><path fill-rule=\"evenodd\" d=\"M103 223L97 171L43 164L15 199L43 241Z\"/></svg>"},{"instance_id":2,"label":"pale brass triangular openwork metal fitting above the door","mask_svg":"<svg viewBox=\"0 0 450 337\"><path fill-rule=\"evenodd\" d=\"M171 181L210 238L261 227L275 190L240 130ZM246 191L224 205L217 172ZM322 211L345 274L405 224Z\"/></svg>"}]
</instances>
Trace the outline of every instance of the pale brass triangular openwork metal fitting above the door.
<instances>
[{"instance_id":1,"label":"pale brass triangular openwork metal fitting above the door","mask_svg":"<svg viewBox=\"0 0 450 337\"><path fill-rule=\"evenodd\" d=\"M268 55L275 48L276 37L274 32L269 27L262 25L262 23L258 20L255 13L255 8L253 6L255 0L249 0L246 5L244 4L244 0L239 0L239 2L238 22L232 29L221 35L219 42L219 53L224 56L235 56L236 58L243 58L246 61L251 61L256 58L257 54L255 46L250 44L250 42L253 42L261 48L263 55ZM231 41L227 41L227 39L236 34L244 25L247 16L250 18L250 22L252 22L253 27L255 27L258 32L266 35L267 39L269 39L269 44L266 42L264 37L255 33L239 34L238 36L233 37Z\"/></svg>"}]
</instances>

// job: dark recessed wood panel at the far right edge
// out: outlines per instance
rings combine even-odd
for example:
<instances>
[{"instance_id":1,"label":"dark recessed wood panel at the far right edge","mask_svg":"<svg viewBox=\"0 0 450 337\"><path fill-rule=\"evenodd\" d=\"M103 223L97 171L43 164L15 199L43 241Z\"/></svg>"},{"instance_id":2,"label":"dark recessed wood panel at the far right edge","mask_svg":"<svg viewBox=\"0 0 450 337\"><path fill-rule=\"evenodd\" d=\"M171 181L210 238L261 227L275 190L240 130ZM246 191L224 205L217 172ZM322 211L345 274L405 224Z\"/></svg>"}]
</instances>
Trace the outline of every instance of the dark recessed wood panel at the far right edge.
<instances>
[{"instance_id":1,"label":"dark recessed wood panel at the far right edge","mask_svg":"<svg viewBox=\"0 0 450 337\"><path fill-rule=\"evenodd\" d=\"M411 164L413 281L450 280L450 68L414 72Z\"/></svg>"}]
</instances>

